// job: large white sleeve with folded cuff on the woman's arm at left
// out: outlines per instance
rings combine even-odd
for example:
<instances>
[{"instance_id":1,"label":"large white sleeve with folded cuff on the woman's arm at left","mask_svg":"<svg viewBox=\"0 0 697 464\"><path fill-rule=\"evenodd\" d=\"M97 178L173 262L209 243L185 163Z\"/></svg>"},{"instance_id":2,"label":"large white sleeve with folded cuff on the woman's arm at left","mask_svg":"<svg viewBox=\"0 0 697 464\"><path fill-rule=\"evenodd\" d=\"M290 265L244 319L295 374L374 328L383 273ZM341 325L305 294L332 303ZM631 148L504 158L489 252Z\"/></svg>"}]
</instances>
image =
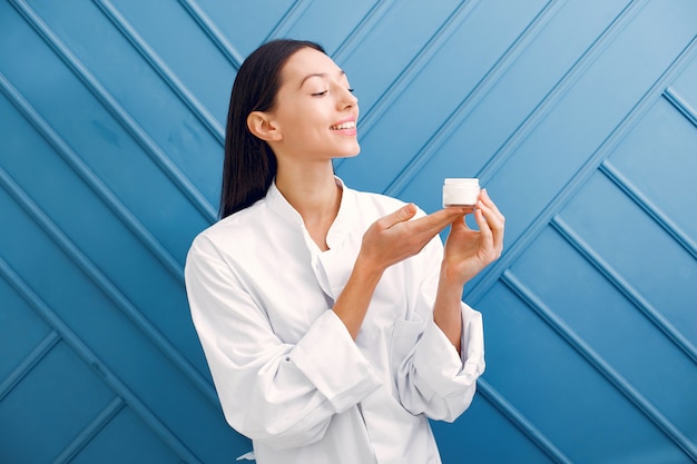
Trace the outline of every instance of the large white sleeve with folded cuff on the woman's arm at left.
<instances>
[{"instance_id":1,"label":"large white sleeve with folded cuff on the woman's arm at left","mask_svg":"<svg viewBox=\"0 0 697 464\"><path fill-rule=\"evenodd\" d=\"M298 343L283 343L207 238L194 241L185 278L223 412L243 435L275 448L314 443L334 414L379 387L371 364L328 308Z\"/></svg>"}]
</instances>

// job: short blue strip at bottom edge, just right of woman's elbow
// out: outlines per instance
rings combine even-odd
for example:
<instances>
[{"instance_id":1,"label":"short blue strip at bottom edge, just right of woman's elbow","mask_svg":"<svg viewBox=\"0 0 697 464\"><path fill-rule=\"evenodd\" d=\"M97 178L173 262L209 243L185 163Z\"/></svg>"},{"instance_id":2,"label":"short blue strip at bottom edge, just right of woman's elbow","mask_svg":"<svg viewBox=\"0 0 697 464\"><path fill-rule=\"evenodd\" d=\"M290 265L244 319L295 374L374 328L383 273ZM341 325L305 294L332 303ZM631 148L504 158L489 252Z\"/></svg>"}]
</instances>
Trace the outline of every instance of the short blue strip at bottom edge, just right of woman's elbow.
<instances>
[{"instance_id":1,"label":"short blue strip at bottom edge, just right of woman's elbow","mask_svg":"<svg viewBox=\"0 0 697 464\"><path fill-rule=\"evenodd\" d=\"M505 418L508 418L523 435L537 447L548 455L557 464L573 464L557 445L552 443L539 428L534 426L520 411L516 408L503 395L483 378L477 381L478 392Z\"/></svg>"}]
</instances>

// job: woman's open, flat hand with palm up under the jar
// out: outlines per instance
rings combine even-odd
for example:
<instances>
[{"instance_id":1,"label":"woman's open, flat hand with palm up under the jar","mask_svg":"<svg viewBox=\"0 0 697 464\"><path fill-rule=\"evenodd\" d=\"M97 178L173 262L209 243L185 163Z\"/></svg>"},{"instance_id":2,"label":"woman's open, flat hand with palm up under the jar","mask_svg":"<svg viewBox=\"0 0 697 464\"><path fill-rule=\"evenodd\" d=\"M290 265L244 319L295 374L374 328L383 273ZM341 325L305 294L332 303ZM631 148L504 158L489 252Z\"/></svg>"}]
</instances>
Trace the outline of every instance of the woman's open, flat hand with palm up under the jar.
<instances>
[{"instance_id":1,"label":"woman's open, flat hand with palm up under the jar","mask_svg":"<svg viewBox=\"0 0 697 464\"><path fill-rule=\"evenodd\" d=\"M416 206L409 204L377 219L363 235L359 260L375 272L416 255L436 234L463 217L464 208L445 208L411 220Z\"/></svg>"}]
</instances>

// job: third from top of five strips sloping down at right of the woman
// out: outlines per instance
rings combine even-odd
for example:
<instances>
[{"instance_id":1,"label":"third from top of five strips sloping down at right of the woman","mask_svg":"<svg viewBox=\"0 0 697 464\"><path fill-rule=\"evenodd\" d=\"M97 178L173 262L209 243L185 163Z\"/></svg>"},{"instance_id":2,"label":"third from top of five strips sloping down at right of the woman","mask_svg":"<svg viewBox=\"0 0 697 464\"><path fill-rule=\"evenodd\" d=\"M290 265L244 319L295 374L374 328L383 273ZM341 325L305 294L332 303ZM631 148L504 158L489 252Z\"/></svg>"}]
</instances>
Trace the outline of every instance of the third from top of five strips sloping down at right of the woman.
<instances>
[{"instance_id":1,"label":"third from top of five strips sloping down at right of the woman","mask_svg":"<svg viewBox=\"0 0 697 464\"><path fill-rule=\"evenodd\" d=\"M576 248L596 269L600 272L619 292L622 293L661 333L664 333L683 353L697 364L697 347L631 286L612 266L580 237L559 215L551 226Z\"/></svg>"}]
</instances>

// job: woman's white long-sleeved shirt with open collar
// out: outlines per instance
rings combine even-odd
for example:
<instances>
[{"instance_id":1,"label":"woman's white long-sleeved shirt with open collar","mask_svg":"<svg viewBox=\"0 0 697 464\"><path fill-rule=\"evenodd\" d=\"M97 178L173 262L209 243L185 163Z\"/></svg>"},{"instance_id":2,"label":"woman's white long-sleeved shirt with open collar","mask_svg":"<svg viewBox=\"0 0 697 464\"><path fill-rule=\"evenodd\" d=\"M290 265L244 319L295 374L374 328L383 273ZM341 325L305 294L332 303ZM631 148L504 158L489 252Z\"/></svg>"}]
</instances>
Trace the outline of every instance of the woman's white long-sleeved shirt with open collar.
<instances>
[{"instance_id":1,"label":"woman's white long-sleeved shirt with open collar","mask_svg":"<svg viewBox=\"0 0 697 464\"><path fill-rule=\"evenodd\" d=\"M436 236L386 269L354 342L332 306L365 230L404 204L337 184L327 251L274 184L192 245L192 317L225 417L259 464L440 463L428 418L451 422L470 405L481 315L462 304L460 357L432 316Z\"/></svg>"}]
</instances>

